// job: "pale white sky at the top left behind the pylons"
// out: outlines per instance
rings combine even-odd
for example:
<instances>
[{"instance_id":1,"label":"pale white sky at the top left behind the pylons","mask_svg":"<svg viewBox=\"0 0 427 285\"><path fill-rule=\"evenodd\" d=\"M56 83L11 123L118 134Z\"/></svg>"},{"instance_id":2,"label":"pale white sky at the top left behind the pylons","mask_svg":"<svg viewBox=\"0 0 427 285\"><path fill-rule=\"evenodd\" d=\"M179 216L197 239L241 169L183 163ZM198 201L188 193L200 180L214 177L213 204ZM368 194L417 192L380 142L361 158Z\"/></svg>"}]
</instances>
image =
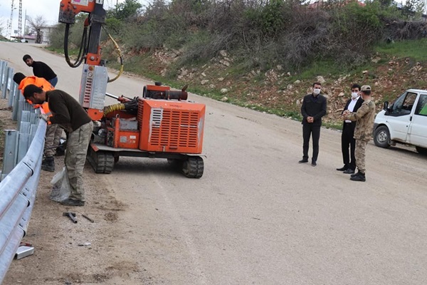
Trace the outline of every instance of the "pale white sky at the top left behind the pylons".
<instances>
[{"instance_id":1,"label":"pale white sky at the top left behind the pylons","mask_svg":"<svg viewBox=\"0 0 427 285\"><path fill-rule=\"evenodd\" d=\"M109 9L117 3L125 0L104 0L104 9ZM139 1L141 4L144 1ZM25 14L31 19L36 16L43 16L48 25L58 24L60 0L22 0L22 27L25 21ZM3 27L3 36L6 36L8 21L11 17L12 0L0 0L0 26ZM14 0L14 16L12 19L12 36L18 29L19 21L19 0Z\"/></svg>"}]
</instances>

